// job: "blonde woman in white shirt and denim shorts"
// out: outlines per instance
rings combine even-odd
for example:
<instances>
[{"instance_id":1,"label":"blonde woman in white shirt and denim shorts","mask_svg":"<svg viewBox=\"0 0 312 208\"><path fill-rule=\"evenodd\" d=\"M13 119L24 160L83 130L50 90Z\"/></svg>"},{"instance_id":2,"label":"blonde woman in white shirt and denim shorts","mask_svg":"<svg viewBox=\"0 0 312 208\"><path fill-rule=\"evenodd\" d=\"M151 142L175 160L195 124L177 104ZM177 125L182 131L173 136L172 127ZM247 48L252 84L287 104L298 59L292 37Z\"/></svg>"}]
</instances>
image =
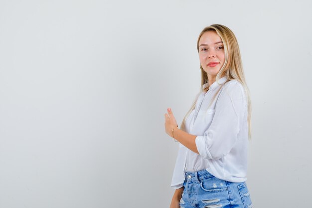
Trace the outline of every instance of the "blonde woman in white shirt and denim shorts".
<instances>
[{"instance_id":1,"label":"blonde woman in white shirt and denim shorts","mask_svg":"<svg viewBox=\"0 0 312 208\"><path fill-rule=\"evenodd\" d=\"M179 142L170 208L251 208L246 185L251 105L239 46L213 24L197 41L202 88L180 129L170 108L165 131Z\"/></svg>"}]
</instances>

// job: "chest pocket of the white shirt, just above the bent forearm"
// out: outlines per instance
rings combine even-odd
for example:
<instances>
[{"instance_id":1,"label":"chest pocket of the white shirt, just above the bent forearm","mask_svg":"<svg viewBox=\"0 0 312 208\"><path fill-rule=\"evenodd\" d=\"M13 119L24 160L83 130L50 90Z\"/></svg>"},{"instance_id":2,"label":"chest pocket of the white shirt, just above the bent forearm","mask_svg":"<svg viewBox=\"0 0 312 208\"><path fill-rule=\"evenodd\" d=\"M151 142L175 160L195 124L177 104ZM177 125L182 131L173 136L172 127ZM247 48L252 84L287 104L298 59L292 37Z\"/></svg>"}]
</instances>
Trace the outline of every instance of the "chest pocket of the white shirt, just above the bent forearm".
<instances>
[{"instance_id":1,"label":"chest pocket of the white shirt, just above the bent forearm","mask_svg":"<svg viewBox=\"0 0 312 208\"><path fill-rule=\"evenodd\" d=\"M214 109L207 109L207 110L200 110L196 116L193 125L193 133L197 136L203 136L204 132L209 128L212 119L214 117L215 110Z\"/></svg>"}]
</instances>

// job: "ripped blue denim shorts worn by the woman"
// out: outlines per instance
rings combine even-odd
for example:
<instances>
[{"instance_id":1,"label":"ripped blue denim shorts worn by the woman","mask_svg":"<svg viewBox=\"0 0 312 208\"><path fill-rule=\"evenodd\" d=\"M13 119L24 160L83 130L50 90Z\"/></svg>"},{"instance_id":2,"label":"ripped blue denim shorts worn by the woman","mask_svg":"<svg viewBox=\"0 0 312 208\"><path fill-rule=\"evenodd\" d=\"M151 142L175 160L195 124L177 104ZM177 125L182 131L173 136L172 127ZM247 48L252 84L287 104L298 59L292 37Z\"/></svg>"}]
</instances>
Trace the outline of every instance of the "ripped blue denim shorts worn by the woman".
<instances>
[{"instance_id":1,"label":"ripped blue denim shorts worn by the woman","mask_svg":"<svg viewBox=\"0 0 312 208\"><path fill-rule=\"evenodd\" d=\"M180 208L252 208L246 182L218 179L206 170L186 172Z\"/></svg>"}]
</instances>

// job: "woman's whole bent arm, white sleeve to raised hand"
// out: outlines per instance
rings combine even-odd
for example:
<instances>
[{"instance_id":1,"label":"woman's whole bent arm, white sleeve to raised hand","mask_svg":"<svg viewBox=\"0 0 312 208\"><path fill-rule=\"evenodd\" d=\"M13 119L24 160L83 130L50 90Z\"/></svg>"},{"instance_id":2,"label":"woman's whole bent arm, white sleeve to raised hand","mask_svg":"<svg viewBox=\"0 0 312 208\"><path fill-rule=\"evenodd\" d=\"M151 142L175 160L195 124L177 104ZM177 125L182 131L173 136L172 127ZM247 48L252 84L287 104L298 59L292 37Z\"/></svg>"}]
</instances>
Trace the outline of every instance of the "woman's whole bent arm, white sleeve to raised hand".
<instances>
[{"instance_id":1,"label":"woman's whole bent arm, white sleeve to raised hand","mask_svg":"<svg viewBox=\"0 0 312 208\"><path fill-rule=\"evenodd\" d=\"M178 129L170 108L167 109L168 114L165 114L165 130L170 137L203 158L219 159L228 154L235 144L241 121L247 119L246 109L243 88L238 82L232 82L220 92L214 118L203 136Z\"/></svg>"}]
</instances>

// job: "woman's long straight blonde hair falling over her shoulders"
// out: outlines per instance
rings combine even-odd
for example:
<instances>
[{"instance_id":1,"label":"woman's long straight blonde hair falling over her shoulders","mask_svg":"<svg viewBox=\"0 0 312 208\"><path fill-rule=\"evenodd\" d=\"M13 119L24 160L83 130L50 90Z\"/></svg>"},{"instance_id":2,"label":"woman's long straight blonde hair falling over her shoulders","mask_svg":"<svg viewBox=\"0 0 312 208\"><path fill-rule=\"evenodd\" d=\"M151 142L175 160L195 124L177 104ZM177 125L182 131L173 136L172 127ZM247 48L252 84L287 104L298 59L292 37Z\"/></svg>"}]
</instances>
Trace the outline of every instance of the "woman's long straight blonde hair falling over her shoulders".
<instances>
[{"instance_id":1,"label":"woman's long straight blonde hair falling over her shoulders","mask_svg":"<svg viewBox=\"0 0 312 208\"><path fill-rule=\"evenodd\" d=\"M239 51L239 46L237 39L228 27L222 25L222 24L212 24L210 26L205 27L199 34L198 40L197 40L197 51L199 52L199 39L202 34L204 34L207 31L215 31L221 38L223 45L224 45L224 55L225 60L224 64L221 67L220 71L218 72L216 76L216 82L220 79L220 77L226 76L227 80L237 80L239 81L242 86L245 89L246 97L247 97L247 105L248 105L248 137L251 138L251 100L250 100L250 93L249 89L246 84L243 65L242 65L242 59ZM195 100L192 103L191 108L184 116L184 119L180 125L180 129L185 131L185 121L191 111L195 109L196 100L201 92L207 91L209 89L209 86L205 87L203 89L202 85L209 83L207 73L203 70L203 68L200 66L201 71L201 85L200 85L200 91L196 95ZM217 92L218 93L218 92ZM216 94L217 94L216 93Z\"/></svg>"}]
</instances>

